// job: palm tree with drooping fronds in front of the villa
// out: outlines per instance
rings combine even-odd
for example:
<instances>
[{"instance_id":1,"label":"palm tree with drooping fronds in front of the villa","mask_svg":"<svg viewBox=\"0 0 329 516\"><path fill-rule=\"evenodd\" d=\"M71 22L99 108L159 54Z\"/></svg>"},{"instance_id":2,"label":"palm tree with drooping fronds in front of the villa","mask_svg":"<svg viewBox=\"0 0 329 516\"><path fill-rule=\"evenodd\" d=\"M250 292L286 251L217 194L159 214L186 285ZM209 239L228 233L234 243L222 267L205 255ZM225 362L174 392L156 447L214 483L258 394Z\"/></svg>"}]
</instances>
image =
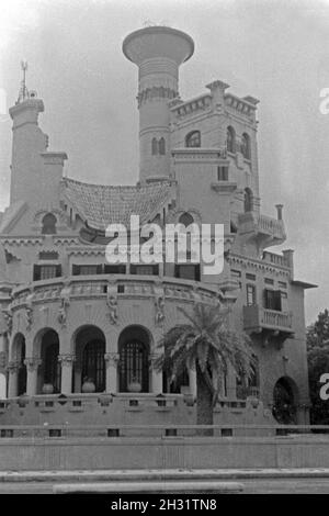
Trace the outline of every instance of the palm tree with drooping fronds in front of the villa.
<instances>
[{"instance_id":1,"label":"palm tree with drooping fronds in front of the villa","mask_svg":"<svg viewBox=\"0 0 329 516\"><path fill-rule=\"evenodd\" d=\"M190 315L179 309L189 324L169 329L159 343L162 355L157 370L175 381L186 369L196 371L196 424L213 425L213 408L229 366L237 374L250 378L254 361L250 339L227 327L228 309L197 303ZM212 435L203 431L203 435Z\"/></svg>"}]
</instances>

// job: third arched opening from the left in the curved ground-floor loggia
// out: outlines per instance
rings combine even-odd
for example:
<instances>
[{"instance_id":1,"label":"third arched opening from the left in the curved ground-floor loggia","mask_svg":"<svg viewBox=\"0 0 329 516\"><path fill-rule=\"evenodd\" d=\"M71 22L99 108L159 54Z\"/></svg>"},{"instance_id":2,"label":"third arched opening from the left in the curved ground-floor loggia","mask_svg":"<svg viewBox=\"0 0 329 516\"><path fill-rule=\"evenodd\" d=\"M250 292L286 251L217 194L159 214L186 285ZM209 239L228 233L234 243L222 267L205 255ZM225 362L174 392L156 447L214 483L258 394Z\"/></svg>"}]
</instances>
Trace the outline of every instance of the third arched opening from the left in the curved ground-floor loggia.
<instances>
[{"instance_id":1,"label":"third arched opening from the left in the curved ground-floor loggia","mask_svg":"<svg viewBox=\"0 0 329 516\"><path fill-rule=\"evenodd\" d=\"M95 392L105 391L105 336L97 326L83 326L76 333L75 392L82 392L86 381Z\"/></svg>"}]
</instances>

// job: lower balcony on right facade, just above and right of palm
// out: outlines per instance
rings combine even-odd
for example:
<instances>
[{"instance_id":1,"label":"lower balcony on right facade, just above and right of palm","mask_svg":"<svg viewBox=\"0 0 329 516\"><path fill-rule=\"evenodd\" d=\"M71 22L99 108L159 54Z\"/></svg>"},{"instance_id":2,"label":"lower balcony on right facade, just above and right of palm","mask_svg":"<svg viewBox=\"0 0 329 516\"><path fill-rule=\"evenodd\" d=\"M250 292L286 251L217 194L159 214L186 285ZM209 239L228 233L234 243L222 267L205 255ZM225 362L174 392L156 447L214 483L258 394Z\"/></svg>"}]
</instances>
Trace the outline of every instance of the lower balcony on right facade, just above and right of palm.
<instances>
[{"instance_id":1,"label":"lower balcony on right facade, just above and right of palm","mask_svg":"<svg viewBox=\"0 0 329 516\"><path fill-rule=\"evenodd\" d=\"M266 333L282 337L293 336L292 314L263 309L257 304L243 306L243 327L248 333Z\"/></svg>"}]
</instances>

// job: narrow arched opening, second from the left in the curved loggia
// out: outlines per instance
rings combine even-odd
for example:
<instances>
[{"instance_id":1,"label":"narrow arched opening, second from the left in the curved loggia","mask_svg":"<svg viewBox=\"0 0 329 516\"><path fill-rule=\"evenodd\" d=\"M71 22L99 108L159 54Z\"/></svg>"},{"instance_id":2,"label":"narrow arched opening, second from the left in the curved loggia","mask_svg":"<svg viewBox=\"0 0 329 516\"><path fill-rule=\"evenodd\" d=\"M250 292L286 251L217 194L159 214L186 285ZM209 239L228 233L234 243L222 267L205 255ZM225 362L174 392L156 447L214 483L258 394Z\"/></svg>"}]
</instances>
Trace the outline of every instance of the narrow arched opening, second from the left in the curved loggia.
<instances>
[{"instance_id":1,"label":"narrow arched opening, second from the left in the curved loggia","mask_svg":"<svg viewBox=\"0 0 329 516\"><path fill-rule=\"evenodd\" d=\"M44 384L50 384L54 393L60 392L60 363L58 362L59 338L54 329L47 329L41 338L39 390Z\"/></svg>"}]
</instances>

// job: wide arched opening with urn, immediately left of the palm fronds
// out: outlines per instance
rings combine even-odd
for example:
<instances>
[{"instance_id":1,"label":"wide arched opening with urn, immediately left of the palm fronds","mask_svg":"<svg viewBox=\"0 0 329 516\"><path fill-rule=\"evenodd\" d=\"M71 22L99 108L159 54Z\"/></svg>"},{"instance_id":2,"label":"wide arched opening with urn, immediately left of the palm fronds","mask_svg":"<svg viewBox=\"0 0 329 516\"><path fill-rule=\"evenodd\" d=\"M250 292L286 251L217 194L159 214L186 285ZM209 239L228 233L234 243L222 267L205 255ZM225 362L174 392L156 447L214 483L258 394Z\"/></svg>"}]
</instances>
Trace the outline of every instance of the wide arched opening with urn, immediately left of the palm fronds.
<instances>
[{"instance_id":1,"label":"wide arched opening with urn, immediately left of the palm fronds","mask_svg":"<svg viewBox=\"0 0 329 516\"><path fill-rule=\"evenodd\" d=\"M138 382L141 392L149 391L149 333L141 326L128 326L118 338L120 392L129 392Z\"/></svg>"}]
</instances>

